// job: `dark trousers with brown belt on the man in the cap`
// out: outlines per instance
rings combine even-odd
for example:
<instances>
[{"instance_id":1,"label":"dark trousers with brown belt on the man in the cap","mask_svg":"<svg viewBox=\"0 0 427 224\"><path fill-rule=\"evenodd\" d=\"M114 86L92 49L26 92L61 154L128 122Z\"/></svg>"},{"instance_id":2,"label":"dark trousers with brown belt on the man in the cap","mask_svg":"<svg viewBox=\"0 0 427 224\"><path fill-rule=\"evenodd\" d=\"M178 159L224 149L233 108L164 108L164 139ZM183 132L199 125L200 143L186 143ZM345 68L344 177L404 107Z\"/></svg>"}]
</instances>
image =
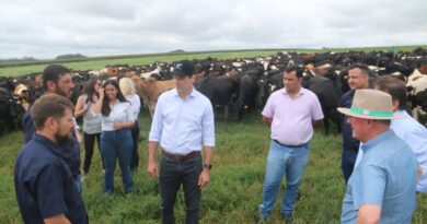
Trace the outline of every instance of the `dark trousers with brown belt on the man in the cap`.
<instances>
[{"instance_id":1,"label":"dark trousers with brown belt on the man in the cap","mask_svg":"<svg viewBox=\"0 0 427 224\"><path fill-rule=\"evenodd\" d=\"M197 224L199 220L201 191L198 178L201 173L201 155L184 162L162 156L160 162L160 210L163 224L174 224L174 204L181 185L184 188L185 223Z\"/></svg>"}]
</instances>

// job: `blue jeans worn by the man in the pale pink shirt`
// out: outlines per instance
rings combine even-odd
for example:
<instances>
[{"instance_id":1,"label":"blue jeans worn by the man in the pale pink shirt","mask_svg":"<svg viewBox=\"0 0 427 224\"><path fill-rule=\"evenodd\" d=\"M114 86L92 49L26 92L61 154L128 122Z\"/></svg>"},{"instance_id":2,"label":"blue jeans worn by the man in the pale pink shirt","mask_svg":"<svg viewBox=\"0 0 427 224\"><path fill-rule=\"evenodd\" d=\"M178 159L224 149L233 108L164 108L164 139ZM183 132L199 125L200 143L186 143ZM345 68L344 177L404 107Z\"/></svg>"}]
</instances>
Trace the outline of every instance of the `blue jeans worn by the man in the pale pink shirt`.
<instances>
[{"instance_id":1,"label":"blue jeans worn by the man in the pale pink shirt","mask_svg":"<svg viewBox=\"0 0 427 224\"><path fill-rule=\"evenodd\" d=\"M280 213L282 215L292 213L298 189L308 163L309 143L299 148L287 148L272 140L263 186L263 203L258 207L263 217L268 217L272 214L281 178L285 174L286 188Z\"/></svg>"}]
</instances>

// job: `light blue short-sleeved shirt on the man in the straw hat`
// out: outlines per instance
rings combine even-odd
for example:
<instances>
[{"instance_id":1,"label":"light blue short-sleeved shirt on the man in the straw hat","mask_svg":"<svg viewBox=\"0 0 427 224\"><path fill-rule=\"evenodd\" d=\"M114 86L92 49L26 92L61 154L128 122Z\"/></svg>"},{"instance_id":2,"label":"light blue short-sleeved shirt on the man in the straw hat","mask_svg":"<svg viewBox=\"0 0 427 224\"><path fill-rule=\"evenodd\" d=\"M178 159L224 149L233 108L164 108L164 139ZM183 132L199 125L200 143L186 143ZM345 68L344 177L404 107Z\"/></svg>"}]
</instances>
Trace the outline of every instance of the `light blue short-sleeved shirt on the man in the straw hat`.
<instances>
[{"instance_id":1,"label":"light blue short-sleeved shirt on the man in the straw hat","mask_svg":"<svg viewBox=\"0 0 427 224\"><path fill-rule=\"evenodd\" d=\"M362 151L348 180L342 223L356 223L363 204L381 207L380 223L411 223L418 163L409 145L389 130L366 142Z\"/></svg>"}]
</instances>

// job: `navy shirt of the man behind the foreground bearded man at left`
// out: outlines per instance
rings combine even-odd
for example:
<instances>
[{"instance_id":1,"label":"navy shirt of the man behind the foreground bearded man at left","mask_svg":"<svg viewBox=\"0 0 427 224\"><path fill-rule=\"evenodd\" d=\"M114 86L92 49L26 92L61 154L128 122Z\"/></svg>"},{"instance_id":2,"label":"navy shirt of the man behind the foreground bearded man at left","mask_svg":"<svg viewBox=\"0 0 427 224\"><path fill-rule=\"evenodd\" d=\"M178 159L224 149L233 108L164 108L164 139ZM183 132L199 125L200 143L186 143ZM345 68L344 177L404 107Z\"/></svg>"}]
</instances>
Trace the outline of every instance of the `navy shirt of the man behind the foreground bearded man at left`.
<instances>
[{"instance_id":1,"label":"navy shirt of the man behind the foreground bearded man at left","mask_svg":"<svg viewBox=\"0 0 427 224\"><path fill-rule=\"evenodd\" d=\"M33 118L31 117L31 107L24 114L22 120L22 130L24 131L25 143L30 142L35 134L35 128ZM76 178L80 175L80 143L77 140L74 129L71 130L72 141L61 143L60 146L64 149L62 158L66 161L71 169L72 176Z\"/></svg>"}]
</instances>

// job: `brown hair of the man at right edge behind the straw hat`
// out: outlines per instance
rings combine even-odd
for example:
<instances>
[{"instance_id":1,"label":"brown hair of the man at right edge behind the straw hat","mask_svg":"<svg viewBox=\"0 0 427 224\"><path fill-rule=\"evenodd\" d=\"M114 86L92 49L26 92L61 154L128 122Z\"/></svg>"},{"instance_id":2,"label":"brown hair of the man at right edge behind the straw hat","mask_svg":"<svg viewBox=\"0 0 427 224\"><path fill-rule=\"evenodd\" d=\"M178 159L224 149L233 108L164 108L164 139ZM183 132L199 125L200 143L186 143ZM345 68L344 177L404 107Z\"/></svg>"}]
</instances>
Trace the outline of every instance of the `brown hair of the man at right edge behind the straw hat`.
<instances>
[{"instance_id":1,"label":"brown hair of the man at right edge behind the straw hat","mask_svg":"<svg viewBox=\"0 0 427 224\"><path fill-rule=\"evenodd\" d=\"M374 86L392 96L393 101L399 102L399 109L406 109L407 97L406 97L406 85L402 80L392 75L383 75L378 78Z\"/></svg>"}]
</instances>

